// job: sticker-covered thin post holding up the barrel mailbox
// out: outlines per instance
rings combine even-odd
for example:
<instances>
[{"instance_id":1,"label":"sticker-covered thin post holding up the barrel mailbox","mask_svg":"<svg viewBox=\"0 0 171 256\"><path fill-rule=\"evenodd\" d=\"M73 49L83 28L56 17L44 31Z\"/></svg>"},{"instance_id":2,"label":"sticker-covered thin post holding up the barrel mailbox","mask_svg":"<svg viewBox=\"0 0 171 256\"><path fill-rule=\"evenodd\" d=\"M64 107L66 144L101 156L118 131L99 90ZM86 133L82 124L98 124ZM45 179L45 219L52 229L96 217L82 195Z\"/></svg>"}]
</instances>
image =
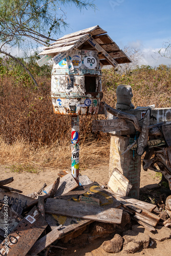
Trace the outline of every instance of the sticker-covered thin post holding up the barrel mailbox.
<instances>
[{"instance_id":1,"label":"sticker-covered thin post holding up the barrel mailbox","mask_svg":"<svg viewBox=\"0 0 171 256\"><path fill-rule=\"evenodd\" d=\"M71 116L71 174L79 184L79 116Z\"/></svg>"}]
</instances>

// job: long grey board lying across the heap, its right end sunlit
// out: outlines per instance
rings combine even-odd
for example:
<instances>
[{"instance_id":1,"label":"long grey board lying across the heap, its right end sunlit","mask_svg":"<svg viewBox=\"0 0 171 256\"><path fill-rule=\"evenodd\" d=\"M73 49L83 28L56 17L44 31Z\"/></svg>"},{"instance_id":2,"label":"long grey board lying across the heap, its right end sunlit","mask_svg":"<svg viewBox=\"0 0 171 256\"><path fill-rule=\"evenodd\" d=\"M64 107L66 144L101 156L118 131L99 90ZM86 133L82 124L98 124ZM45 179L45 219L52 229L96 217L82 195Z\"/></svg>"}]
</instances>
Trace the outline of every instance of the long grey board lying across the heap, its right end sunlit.
<instances>
[{"instance_id":1,"label":"long grey board lying across the heap, its right end sunlit","mask_svg":"<svg viewBox=\"0 0 171 256\"><path fill-rule=\"evenodd\" d=\"M120 224L122 210L114 207L112 204L106 207L101 207L90 204L79 204L77 202L62 199L48 198L45 204L45 212L48 214Z\"/></svg>"}]
</instances>

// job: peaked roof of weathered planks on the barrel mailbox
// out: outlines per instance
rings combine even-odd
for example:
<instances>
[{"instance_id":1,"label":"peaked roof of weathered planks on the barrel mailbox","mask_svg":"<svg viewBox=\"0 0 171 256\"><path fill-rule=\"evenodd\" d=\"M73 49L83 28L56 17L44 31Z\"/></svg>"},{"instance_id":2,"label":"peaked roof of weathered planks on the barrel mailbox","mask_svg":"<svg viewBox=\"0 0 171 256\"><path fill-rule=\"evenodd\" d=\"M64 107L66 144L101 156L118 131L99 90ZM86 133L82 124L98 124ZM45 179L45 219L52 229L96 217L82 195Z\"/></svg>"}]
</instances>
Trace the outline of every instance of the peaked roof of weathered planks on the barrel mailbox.
<instances>
[{"instance_id":1,"label":"peaked roof of weathered planks on the barrel mailbox","mask_svg":"<svg viewBox=\"0 0 171 256\"><path fill-rule=\"evenodd\" d=\"M66 51L71 53L72 50L76 49L96 50L99 53L99 59L102 65L116 67L121 63L132 62L106 33L99 26L83 29L59 38L38 55L50 54L55 56Z\"/></svg>"}]
</instances>

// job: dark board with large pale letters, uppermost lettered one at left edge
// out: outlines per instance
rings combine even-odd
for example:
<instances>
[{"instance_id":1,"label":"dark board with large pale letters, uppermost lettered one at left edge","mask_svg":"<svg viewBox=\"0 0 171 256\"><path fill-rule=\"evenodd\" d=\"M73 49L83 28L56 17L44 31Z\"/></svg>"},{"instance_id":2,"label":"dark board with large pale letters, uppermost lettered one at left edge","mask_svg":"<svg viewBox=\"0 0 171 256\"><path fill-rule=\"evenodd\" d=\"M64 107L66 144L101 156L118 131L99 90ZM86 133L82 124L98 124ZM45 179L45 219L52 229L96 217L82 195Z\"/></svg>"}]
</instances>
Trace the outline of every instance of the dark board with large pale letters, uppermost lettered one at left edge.
<instances>
[{"instance_id":1,"label":"dark board with large pale letters, uppermost lettered one at left edge","mask_svg":"<svg viewBox=\"0 0 171 256\"><path fill-rule=\"evenodd\" d=\"M26 204L31 203L35 200L23 194L7 191L5 189L0 188L0 203L4 203L5 196L8 196L7 198L8 205L15 204L15 205L19 205L20 207L24 207Z\"/></svg>"}]
</instances>

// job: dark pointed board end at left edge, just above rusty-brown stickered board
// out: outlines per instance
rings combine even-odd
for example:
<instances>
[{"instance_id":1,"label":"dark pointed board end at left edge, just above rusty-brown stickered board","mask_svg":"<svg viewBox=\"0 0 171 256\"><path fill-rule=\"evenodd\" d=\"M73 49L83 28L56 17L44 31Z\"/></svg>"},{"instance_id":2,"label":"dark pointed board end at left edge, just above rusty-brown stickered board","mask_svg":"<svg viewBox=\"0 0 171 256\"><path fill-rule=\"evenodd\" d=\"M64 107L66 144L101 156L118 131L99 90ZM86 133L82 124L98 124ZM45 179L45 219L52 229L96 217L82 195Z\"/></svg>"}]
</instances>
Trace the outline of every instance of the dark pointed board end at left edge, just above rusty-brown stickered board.
<instances>
[{"instance_id":1,"label":"dark pointed board end at left edge, just above rusty-brown stickered board","mask_svg":"<svg viewBox=\"0 0 171 256\"><path fill-rule=\"evenodd\" d=\"M9 234L22 219L22 216L19 216L10 207L4 205L0 211L0 228L4 230L6 226L6 230Z\"/></svg>"}]
</instances>

